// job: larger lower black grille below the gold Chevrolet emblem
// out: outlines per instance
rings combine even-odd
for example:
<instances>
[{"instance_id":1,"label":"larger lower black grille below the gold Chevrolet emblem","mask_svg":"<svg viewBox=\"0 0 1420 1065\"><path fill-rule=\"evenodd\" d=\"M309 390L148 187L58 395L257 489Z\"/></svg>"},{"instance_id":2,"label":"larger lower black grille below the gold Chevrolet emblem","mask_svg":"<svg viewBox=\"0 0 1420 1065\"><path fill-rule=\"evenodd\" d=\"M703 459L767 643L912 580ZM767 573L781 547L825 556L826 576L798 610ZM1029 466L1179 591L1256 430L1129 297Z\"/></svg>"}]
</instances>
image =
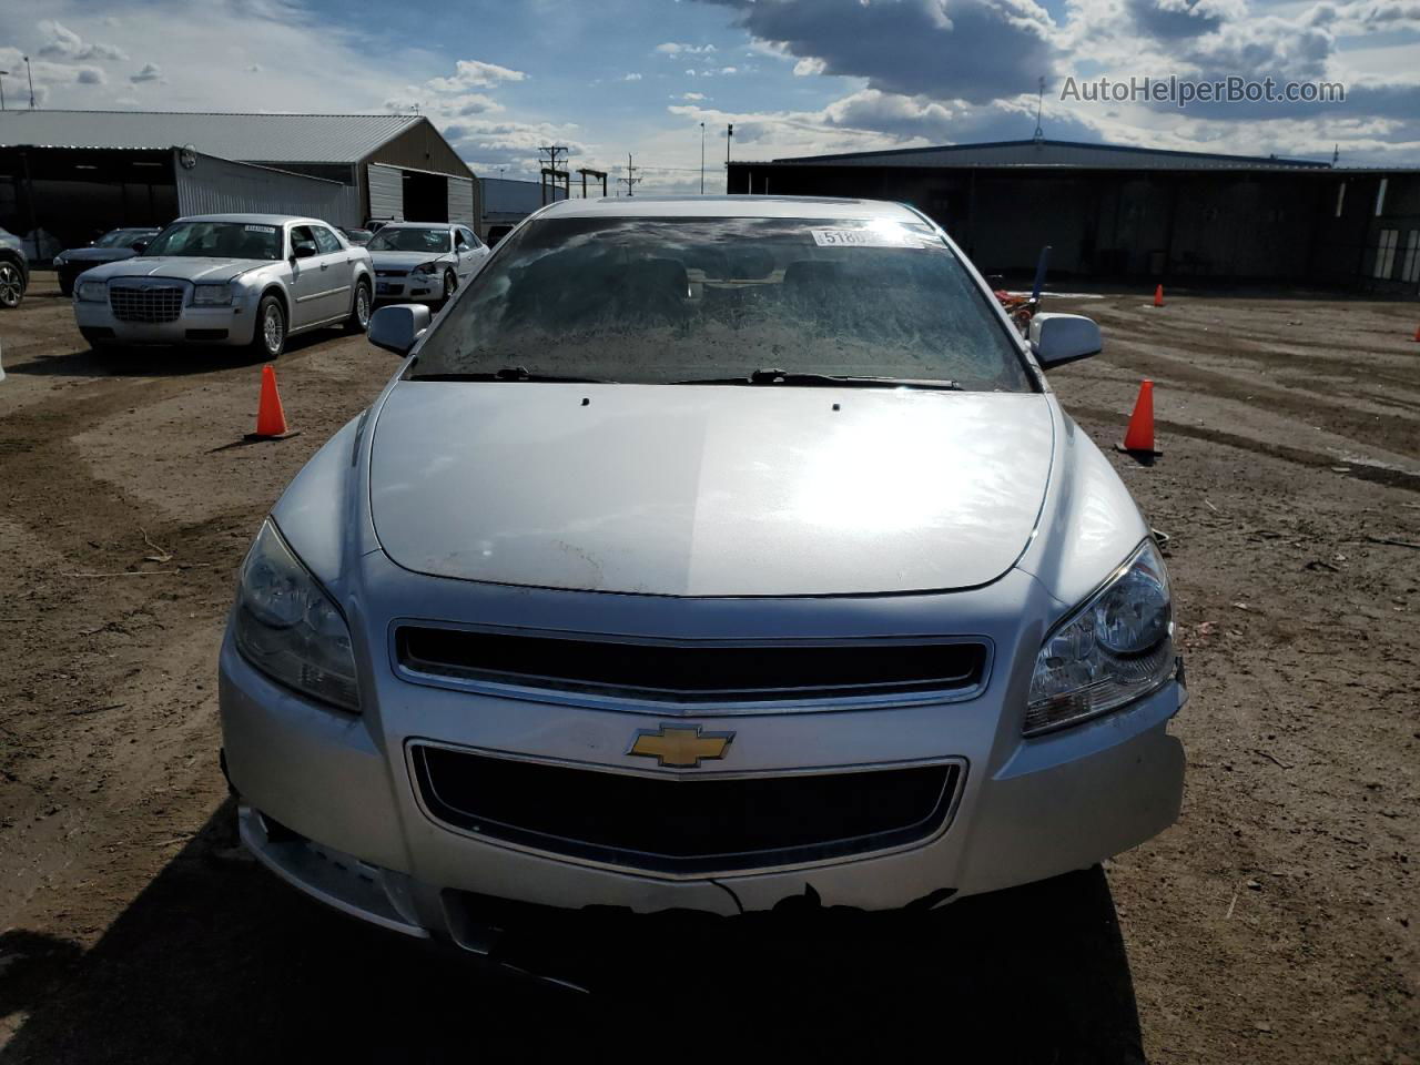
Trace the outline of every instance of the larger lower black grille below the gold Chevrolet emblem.
<instances>
[{"instance_id":1,"label":"larger lower black grille below the gold Chevrolet emblem","mask_svg":"<svg viewBox=\"0 0 1420 1065\"><path fill-rule=\"evenodd\" d=\"M780 777L642 777L413 746L437 821L483 838L663 872L720 872L880 851L939 828L956 764Z\"/></svg>"}]
</instances>

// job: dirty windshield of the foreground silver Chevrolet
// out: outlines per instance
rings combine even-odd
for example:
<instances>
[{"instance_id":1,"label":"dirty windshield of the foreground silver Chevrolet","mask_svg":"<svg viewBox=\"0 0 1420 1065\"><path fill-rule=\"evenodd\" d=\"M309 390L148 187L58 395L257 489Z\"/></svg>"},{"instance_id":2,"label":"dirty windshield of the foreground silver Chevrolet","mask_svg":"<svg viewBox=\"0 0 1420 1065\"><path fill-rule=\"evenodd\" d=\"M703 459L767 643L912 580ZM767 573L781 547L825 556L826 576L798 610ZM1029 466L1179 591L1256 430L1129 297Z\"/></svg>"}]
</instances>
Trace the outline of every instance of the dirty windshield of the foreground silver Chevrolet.
<instances>
[{"instance_id":1,"label":"dirty windshield of the foreground silver Chevrolet","mask_svg":"<svg viewBox=\"0 0 1420 1065\"><path fill-rule=\"evenodd\" d=\"M409 376L508 366L643 383L772 368L1031 390L1005 327L932 229L838 219L532 222Z\"/></svg>"}]
</instances>

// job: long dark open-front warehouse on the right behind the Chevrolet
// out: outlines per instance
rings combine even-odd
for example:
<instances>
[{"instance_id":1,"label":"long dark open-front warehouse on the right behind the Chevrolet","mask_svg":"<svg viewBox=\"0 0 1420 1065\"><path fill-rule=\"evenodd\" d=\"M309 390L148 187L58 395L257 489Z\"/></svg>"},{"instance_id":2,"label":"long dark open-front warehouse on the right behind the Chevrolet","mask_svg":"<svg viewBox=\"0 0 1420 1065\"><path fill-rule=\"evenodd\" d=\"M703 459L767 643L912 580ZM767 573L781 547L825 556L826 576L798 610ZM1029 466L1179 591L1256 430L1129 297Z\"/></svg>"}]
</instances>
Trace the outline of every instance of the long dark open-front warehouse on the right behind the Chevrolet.
<instances>
[{"instance_id":1,"label":"long dark open-front warehouse on the right behind the Chevrolet","mask_svg":"<svg viewBox=\"0 0 1420 1065\"><path fill-rule=\"evenodd\" d=\"M730 163L730 192L902 200L988 273L1420 294L1420 169L1066 141Z\"/></svg>"}]
</instances>

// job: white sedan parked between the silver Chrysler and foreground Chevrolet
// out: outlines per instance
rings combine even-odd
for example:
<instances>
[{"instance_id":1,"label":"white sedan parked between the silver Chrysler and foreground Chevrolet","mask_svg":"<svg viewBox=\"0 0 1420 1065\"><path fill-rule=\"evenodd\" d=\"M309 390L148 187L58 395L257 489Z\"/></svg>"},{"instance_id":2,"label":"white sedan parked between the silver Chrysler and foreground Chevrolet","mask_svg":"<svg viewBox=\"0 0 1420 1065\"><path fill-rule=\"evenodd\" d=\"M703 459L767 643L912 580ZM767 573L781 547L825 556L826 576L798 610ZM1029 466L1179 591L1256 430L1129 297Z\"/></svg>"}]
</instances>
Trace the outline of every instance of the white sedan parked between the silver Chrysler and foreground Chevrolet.
<instances>
[{"instance_id":1,"label":"white sedan parked between the silver Chrysler and foreground Chevrolet","mask_svg":"<svg viewBox=\"0 0 1420 1065\"><path fill-rule=\"evenodd\" d=\"M473 277L488 247L457 223L390 222L365 246L375 298L443 304Z\"/></svg>"}]
</instances>

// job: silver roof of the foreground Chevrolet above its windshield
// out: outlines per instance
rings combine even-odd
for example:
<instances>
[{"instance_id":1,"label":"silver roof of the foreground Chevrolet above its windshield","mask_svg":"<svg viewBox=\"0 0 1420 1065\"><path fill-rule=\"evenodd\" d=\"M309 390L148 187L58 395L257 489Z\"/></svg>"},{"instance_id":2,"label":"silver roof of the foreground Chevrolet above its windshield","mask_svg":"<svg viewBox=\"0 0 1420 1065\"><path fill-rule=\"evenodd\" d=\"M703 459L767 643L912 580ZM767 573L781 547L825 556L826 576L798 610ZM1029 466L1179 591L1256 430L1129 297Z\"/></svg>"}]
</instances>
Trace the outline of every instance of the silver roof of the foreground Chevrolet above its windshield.
<instances>
[{"instance_id":1,"label":"silver roof of the foreground Chevrolet above its windshield","mask_svg":"<svg viewBox=\"0 0 1420 1065\"><path fill-rule=\"evenodd\" d=\"M558 200L540 219L892 219L922 222L912 207L888 200L831 196L602 196Z\"/></svg>"}]
</instances>

